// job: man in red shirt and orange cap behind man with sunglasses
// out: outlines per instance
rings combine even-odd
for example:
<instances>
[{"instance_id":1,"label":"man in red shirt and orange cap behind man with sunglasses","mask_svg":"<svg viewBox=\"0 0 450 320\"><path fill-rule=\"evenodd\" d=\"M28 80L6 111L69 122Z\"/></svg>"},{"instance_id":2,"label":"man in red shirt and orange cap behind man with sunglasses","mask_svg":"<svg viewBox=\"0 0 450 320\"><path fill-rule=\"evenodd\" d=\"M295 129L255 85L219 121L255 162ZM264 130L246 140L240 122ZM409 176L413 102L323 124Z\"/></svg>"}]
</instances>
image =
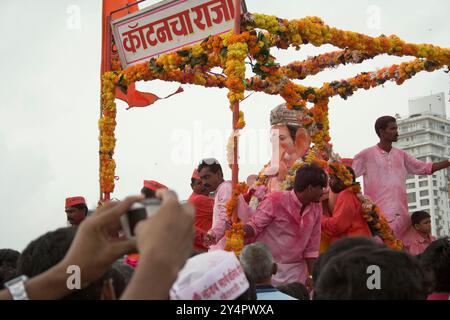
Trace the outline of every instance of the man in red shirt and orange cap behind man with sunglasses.
<instances>
[{"instance_id":1,"label":"man in red shirt and orange cap behind man with sunglasses","mask_svg":"<svg viewBox=\"0 0 450 320\"><path fill-rule=\"evenodd\" d=\"M203 243L203 238L211 229L214 199L208 196L208 190L203 186L197 169L191 177L192 194L188 202L195 208L195 238L194 249L198 251L208 251Z\"/></svg>"}]
</instances>

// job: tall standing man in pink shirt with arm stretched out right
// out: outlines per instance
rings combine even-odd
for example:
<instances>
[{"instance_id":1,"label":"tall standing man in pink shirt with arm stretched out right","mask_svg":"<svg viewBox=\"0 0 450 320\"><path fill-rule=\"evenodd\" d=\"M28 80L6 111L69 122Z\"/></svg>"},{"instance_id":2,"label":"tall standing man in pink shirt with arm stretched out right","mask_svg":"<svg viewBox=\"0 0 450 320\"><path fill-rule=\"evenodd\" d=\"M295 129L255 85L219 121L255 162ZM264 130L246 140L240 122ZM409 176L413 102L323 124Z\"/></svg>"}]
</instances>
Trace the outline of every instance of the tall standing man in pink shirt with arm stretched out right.
<instances>
[{"instance_id":1,"label":"tall standing man in pink shirt with arm stretched out right","mask_svg":"<svg viewBox=\"0 0 450 320\"><path fill-rule=\"evenodd\" d=\"M450 166L450 161L438 163L421 162L403 150L392 147L398 139L397 122L394 117L384 116L375 122L375 132L380 142L364 149L353 159L357 177L364 177L364 193L386 215L394 234L403 239L410 225L406 195L407 174L432 174Z\"/></svg>"}]
</instances>

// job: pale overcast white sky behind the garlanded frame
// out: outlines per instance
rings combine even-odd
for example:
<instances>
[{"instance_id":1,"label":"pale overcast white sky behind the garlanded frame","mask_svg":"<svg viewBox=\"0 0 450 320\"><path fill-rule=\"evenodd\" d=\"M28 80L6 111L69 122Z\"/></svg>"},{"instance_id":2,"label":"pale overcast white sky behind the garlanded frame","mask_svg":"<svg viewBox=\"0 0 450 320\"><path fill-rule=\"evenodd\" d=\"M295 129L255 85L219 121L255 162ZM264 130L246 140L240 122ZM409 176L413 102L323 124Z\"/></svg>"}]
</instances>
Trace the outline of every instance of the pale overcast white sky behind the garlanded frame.
<instances>
[{"instance_id":1,"label":"pale overcast white sky behind the garlanded frame","mask_svg":"<svg viewBox=\"0 0 450 320\"><path fill-rule=\"evenodd\" d=\"M157 1L147 0L140 7ZM411 43L450 47L447 0L247 0L250 12L282 18L321 17L330 26L370 36L396 34ZM0 2L0 248L23 250L36 237L66 226L64 199L99 198L98 127L100 97L100 0L2 0ZM327 45L300 51L273 50L282 65L336 50ZM412 60L381 56L307 78L320 86L363 71ZM334 151L353 157L374 145L373 124L382 115L408 115L408 100L445 92L443 70L421 73L402 86L386 83L358 91L347 101L330 101ZM176 83L138 83L141 90L167 95ZM180 199L190 193L194 167L218 158L225 178L226 143L232 115L226 90L183 85L184 92L148 108L125 110L118 102L116 189L122 199L139 193L144 179L160 181ZM249 95L250 93L246 93ZM240 174L244 181L270 159L269 114L277 96L251 94L241 103L247 126L241 132ZM447 114L449 114L447 102Z\"/></svg>"}]
</instances>

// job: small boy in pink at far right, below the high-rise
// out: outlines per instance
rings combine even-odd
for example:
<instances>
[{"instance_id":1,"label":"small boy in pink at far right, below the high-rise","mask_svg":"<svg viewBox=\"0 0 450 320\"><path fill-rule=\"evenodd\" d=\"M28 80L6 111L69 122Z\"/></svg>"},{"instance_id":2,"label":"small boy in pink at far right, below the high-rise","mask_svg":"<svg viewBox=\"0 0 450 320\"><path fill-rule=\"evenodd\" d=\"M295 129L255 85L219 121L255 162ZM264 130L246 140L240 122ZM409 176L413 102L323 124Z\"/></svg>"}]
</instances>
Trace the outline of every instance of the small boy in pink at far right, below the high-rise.
<instances>
[{"instance_id":1,"label":"small boy in pink at far right, below the high-rise","mask_svg":"<svg viewBox=\"0 0 450 320\"><path fill-rule=\"evenodd\" d=\"M428 212L417 211L411 215L411 227L403 239L405 248L412 255L425 251L436 237L431 235L431 217Z\"/></svg>"}]
</instances>

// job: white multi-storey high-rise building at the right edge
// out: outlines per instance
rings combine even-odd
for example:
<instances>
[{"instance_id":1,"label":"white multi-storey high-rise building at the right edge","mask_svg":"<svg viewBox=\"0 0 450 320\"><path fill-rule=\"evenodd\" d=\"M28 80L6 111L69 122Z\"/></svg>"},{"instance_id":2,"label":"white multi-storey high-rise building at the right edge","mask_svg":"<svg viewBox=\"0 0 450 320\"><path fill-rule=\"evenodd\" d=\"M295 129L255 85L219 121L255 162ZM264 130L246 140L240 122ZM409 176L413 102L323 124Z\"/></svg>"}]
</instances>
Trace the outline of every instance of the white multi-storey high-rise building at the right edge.
<instances>
[{"instance_id":1,"label":"white multi-storey high-rise building at the right edge","mask_svg":"<svg viewBox=\"0 0 450 320\"><path fill-rule=\"evenodd\" d=\"M395 147L425 162L450 159L450 119L444 93L411 99L409 116L396 118L399 139ZM450 235L449 176L447 168L430 176L408 175L406 180L409 213L430 213L432 233L437 237Z\"/></svg>"}]
</instances>

